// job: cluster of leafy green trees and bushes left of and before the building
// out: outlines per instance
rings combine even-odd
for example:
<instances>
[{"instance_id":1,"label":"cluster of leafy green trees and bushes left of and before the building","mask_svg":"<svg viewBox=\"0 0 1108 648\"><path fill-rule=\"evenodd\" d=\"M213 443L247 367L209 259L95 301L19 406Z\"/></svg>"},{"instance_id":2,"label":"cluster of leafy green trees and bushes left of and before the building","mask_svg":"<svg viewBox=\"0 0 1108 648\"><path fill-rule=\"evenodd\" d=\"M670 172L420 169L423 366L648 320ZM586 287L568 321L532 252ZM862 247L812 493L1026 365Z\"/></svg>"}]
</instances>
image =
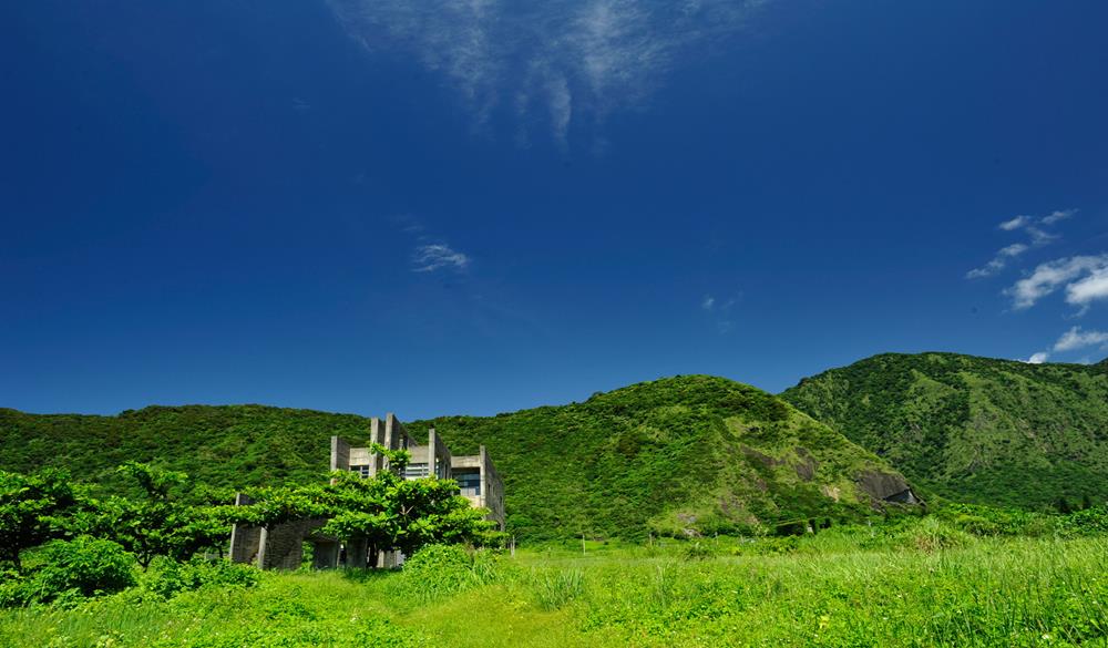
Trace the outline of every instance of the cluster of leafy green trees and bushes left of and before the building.
<instances>
[{"instance_id":1,"label":"cluster of leafy green trees and bushes left of and before the building","mask_svg":"<svg viewBox=\"0 0 1108 648\"><path fill-rule=\"evenodd\" d=\"M404 453L389 453L402 470ZM329 484L259 488L254 504L235 506L230 493L189 483L183 473L135 462L119 471L132 481L132 493L104 500L60 471L0 472L0 607L73 605L131 588L165 598L253 585L252 568L224 558L234 524L324 518L322 531L340 541L408 553L435 543L500 541L485 512L472 508L450 480L342 473Z\"/></svg>"}]
</instances>

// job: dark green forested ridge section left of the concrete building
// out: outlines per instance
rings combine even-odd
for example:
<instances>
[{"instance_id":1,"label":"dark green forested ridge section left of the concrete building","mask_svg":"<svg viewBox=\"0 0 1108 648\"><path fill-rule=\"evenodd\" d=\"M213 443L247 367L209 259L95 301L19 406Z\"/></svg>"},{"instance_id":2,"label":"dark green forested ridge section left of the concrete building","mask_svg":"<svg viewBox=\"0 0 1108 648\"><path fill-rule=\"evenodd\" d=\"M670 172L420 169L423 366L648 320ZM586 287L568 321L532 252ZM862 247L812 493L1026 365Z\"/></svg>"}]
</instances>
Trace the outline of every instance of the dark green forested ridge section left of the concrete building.
<instances>
[{"instance_id":1,"label":"dark green forested ridge section left of the concrete building","mask_svg":"<svg viewBox=\"0 0 1108 648\"><path fill-rule=\"evenodd\" d=\"M109 493L132 491L115 470L129 461L212 486L309 483L325 479L332 434L363 439L368 425L352 414L261 405L151 407L116 416L0 409L0 470L55 466Z\"/></svg>"}]
</instances>

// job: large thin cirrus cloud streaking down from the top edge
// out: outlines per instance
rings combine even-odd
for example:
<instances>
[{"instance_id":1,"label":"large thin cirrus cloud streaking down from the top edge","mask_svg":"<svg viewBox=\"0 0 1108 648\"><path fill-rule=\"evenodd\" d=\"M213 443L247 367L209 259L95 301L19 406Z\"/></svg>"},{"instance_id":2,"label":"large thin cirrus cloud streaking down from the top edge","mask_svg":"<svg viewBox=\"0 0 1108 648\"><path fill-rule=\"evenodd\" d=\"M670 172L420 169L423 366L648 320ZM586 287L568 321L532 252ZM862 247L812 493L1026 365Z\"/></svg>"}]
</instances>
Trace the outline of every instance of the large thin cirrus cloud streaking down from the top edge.
<instances>
[{"instance_id":1,"label":"large thin cirrus cloud streaking down from the top edge","mask_svg":"<svg viewBox=\"0 0 1108 648\"><path fill-rule=\"evenodd\" d=\"M478 124L506 109L565 145L571 124L642 105L691 52L768 0L328 0L368 50L442 75ZM525 126L523 126L525 128Z\"/></svg>"}]
</instances>

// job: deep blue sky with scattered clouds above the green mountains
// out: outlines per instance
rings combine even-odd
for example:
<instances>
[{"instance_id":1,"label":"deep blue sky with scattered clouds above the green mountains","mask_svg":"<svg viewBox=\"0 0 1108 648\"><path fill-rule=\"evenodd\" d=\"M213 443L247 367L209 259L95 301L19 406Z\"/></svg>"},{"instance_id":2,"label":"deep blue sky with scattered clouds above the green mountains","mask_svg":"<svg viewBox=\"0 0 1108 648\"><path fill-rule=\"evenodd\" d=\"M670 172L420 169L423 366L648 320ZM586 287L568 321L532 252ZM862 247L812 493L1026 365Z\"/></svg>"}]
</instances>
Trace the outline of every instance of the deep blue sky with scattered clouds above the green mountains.
<instances>
[{"instance_id":1,"label":"deep blue sky with scattered clouds above the green mountains","mask_svg":"<svg viewBox=\"0 0 1108 648\"><path fill-rule=\"evenodd\" d=\"M0 8L0 405L1108 356L1108 4ZM1038 356L1035 356L1038 354Z\"/></svg>"}]
</instances>

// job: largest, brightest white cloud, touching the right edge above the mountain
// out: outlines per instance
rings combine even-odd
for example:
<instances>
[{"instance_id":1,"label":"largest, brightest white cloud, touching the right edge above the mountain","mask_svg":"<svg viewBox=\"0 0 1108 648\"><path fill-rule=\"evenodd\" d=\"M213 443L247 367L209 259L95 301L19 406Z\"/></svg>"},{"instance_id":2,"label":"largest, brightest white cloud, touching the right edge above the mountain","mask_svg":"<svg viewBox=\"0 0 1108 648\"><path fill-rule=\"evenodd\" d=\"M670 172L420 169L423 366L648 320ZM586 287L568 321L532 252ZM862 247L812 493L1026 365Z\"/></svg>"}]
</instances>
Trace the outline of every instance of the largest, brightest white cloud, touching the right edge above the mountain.
<instances>
[{"instance_id":1,"label":"largest, brightest white cloud, touching the right edge above the mountain","mask_svg":"<svg viewBox=\"0 0 1108 648\"><path fill-rule=\"evenodd\" d=\"M1087 307L1092 300L1108 297L1108 254L1040 264L1005 294L1012 297L1013 306L1022 310L1061 287L1066 287L1066 301L1075 306Z\"/></svg>"}]
</instances>

